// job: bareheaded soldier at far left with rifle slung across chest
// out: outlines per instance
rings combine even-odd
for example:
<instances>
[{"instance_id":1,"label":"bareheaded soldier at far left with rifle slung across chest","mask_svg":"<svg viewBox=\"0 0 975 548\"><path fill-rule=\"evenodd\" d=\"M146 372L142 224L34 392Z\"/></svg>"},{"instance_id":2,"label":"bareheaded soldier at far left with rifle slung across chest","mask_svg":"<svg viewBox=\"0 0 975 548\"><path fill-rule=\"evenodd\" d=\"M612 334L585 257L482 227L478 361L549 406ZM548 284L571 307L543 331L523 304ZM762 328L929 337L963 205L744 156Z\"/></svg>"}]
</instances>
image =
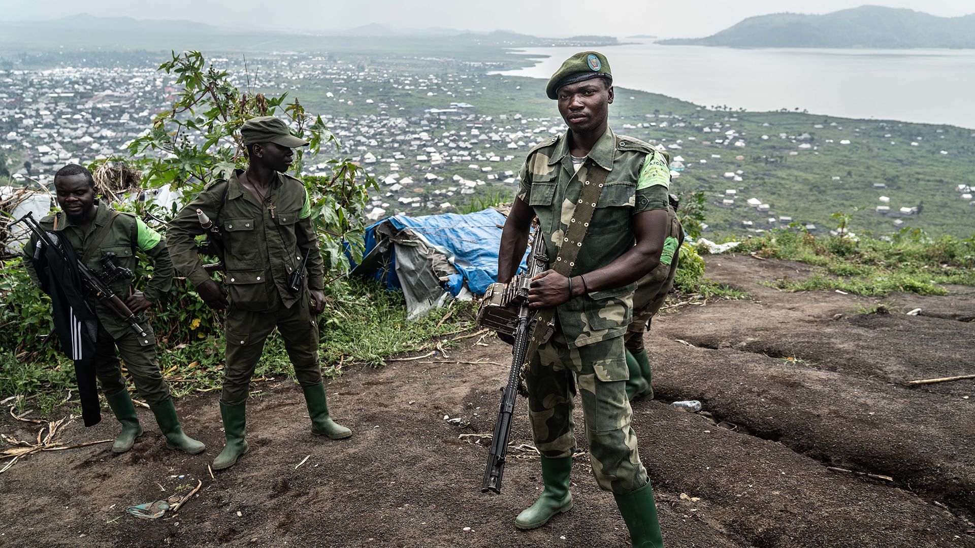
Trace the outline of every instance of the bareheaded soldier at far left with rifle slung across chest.
<instances>
[{"instance_id":1,"label":"bareheaded soldier at far left with rifle slung across chest","mask_svg":"<svg viewBox=\"0 0 975 548\"><path fill-rule=\"evenodd\" d=\"M40 224L70 244L79 260L93 272L104 275L104 271L114 265L119 269L128 269L131 274L138 263L137 252L146 254L153 263L152 278L146 284L145 292L132 291L129 275L113 276L114 280L108 283L112 292L124 298L126 306L136 314L139 326L147 332L145 336L133 333L130 325L99 302L95 295L86 297L98 316L94 357L96 375L108 407L122 423L122 432L112 444L112 451L131 450L136 439L142 435L136 407L119 368L121 354L126 369L136 382L139 395L149 404L159 429L166 436L166 447L190 454L202 452L207 449L206 446L184 434L179 425L170 388L159 371L156 336L145 318L145 311L170 291L173 284L173 262L166 240L136 215L118 212L109 204L99 202L92 173L79 165L68 164L58 170L55 174L55 194L61 211L45 216ZM36 244L35 236L24 247L26 257L34 253ZM40 285L31 261L24 260L24 266L31 280Z\"/></svg>"}]
</instances>

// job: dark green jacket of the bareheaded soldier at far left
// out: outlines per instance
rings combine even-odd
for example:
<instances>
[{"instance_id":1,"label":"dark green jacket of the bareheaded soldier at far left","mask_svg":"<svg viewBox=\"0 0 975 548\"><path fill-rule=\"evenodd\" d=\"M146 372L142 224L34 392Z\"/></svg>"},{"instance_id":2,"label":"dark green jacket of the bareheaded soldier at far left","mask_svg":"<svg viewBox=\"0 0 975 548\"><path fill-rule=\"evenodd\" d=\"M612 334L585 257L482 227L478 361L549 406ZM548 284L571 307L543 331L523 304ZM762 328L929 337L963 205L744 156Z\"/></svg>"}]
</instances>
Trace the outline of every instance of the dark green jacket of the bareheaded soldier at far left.
<instances>
[{"instance_id":1,"label":"dark green jacket of the bareheaded soldier at far left","mask_svg":"<svg viewBox=\"0 0 975 548\"><path fill-rule=\"evenodd\" d=\"M62 212L45 216L40 220L40 224L46 230L56 232L71 244L71 247L80 260L85 253L86 247L95 239L101 227L108 222L113 211L110 206L98 200L95 204L98 206L98 212L95 214L95 221L92 222L92 226L88 229L88 232L82 232L81 228L71 222L68 216ZM57 230L55 229L56 218L58 220ZM33 254L35 245L37 245L37 238L31 236L27 245L23 248L24 256L29 257ZM166 247L166 240L158 232L149 228L136 215L119 213L115 217L115 220L112 221L108 234L98 244L98 249L90 254L91 256L85 265L98 274L104 269L101 265L101 256L112 253L115 254L114 262L116 265L135 271L138 264L137 251L144 252L152 259L152 278L146 284L143 294L148 300L156 302L163 294L170 291L170 287L173 284L173 261ZM24 260L24 265L26 265L30 279L35 284L38 283L37 273L34 272L30 260ZM132 280L123 279L116 280L110 287L119 298L125 300L131 294L131 285ZM132 328L129 327L129 324L122 321L107 306L98 302L94 296L88 297L88 304L92 307L92 310L95 310L98 316L98 322L101 323L101 326L109 334L114 337L119 337L125 333L131 333L130 330ZM144 316L142 314L139 314L137 317L140 323L143 318Z\"/></svg>"}]
</instances>

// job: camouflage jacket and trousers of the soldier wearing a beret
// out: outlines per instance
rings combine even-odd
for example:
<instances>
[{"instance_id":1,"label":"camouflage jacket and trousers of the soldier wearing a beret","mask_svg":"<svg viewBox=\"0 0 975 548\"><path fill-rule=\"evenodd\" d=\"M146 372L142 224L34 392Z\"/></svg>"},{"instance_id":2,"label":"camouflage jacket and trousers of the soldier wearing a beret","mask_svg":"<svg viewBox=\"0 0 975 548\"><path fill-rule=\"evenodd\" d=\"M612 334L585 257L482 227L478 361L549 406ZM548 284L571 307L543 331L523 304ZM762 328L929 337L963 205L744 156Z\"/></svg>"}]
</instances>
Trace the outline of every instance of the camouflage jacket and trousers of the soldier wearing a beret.
<instances>
[{"instance_id":1,"label":"camouflage jacket and trousers of the soldier wearing a beret","mask_svg":"<svg viewBox=\"0 0 975 548\"><path fill-rule=\"evenodd\" d=\"M583 165L572 166L567 135L533 148L522 169L518 197L541 223L550 257L559 253L582 182L595 163L608 171L600 200L571 275L596 270L636 243L632 216L667 209L666 159L649 144L606 129ZM666 174L666 176L664 175ZM557 308L557 331L526 372L528 411L538 450L548 458L575 450L575 386L582 398L593 473L600 487L626 494L647 485L626 396L629 378L623 335L632 319L636 284L593 292Z\"/></svg>"}]
</instances>

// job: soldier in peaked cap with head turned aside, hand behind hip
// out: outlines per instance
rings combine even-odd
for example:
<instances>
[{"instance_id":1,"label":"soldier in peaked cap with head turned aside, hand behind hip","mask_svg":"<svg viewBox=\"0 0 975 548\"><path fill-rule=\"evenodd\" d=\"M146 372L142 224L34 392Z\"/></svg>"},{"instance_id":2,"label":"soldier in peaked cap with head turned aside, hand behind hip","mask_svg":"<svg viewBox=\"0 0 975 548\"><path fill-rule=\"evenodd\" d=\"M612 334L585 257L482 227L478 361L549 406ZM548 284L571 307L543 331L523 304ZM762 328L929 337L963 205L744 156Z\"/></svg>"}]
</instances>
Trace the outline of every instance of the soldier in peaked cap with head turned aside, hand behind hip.
<instances>
[{"instance_id":1,"label":"soldier in peaked cap with head turned aside, hand behind hip","mask_svg":"<svg viewBox=\"0 0 975 548\"><path fill-rule=\"evenodd\" d=\"M329 413L318 362L316 316L325 309L324 264L311 222L311 201L304 183L284 172L292 148L308 142L292 136L274 116L248 120L241 135L247 146L247 170L234 170L207 186L170 222L167 236L176 269L196 286L215 310L226 309L226 365L220 415L226 446L214 469L228 468L248 451L246 406L251 378L264 340L275 327L281 333L304 392L312 433L337 440L352 432ZM204 270L194 238L204 233L197 212L222 226L225 282L229 294ZM307 254L307 276L292 289L292 274Z\"/></svg>"}]
</instances>

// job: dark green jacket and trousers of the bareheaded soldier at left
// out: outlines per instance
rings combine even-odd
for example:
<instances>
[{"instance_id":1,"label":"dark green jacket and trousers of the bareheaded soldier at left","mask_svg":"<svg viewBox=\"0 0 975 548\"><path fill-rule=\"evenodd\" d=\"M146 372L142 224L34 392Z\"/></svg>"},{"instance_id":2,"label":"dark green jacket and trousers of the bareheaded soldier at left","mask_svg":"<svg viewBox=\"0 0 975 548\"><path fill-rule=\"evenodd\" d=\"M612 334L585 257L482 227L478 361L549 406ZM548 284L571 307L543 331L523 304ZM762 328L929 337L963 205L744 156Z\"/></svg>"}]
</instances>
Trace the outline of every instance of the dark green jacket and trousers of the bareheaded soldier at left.
<instances>
[{"instance_id":1,"label":"dark green jacket and trousers of the bareheaded soldier at left","mask_svg":"<svg viewBox=\"0 0 975 548\"><path fill-rule=\"evenodd\" d=\"M63 237L75 252L78 258L82 258L86 246L89 246L95 235L102 226L108 223L113 210L106 204L96 201L98 211L95 220L88 232L82 230L67 215L58 213L47 215L41 219L40 224L45 230L56 232ZM57 218L57 230L55 230L55 219ZM36 237L31 237L27 246L24 247L24 254L32 254L34 245L37 243ZM141 251L153 260L153 276L146 285L143 296L146 299L156 302L159 298L169 292L173 283L173 261L167 251L166 241L162 239L158 232L149 228L135 215L119 213L112 220L108 233L98 244L98 249L90 254L87 266L93 272L100 272L101 255L106 253L115 254L115 264L122 268L135 270L138 257L137 251ZM27 273L34 283L38 283L37 274L34 272L33 265L29 260L24 260ZM125 299L131 294L131 281L128 279L116 280L111 289L115 294ZM140 337L132 331L128 323L115 315L106 305L102 304L94 295L87 297L88 304L98 316L98 340L95 347L95 368L98 375L98 382L101 390L106 395L117 394L125 389L125 379L119 368L119 357L116 354L116 347L122 354L126 369L136 381L136 388L139 395L146 403L153 405L162 403L170 398L170 389L163 375L159 372L159 365L156 360L156 337L152 332L152 326L146 321L144 313L137 314L138 325L146 330L147 336Z\"/></svg>"}]
</instances>

